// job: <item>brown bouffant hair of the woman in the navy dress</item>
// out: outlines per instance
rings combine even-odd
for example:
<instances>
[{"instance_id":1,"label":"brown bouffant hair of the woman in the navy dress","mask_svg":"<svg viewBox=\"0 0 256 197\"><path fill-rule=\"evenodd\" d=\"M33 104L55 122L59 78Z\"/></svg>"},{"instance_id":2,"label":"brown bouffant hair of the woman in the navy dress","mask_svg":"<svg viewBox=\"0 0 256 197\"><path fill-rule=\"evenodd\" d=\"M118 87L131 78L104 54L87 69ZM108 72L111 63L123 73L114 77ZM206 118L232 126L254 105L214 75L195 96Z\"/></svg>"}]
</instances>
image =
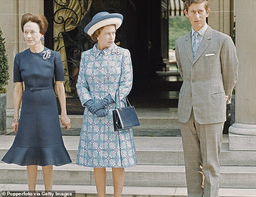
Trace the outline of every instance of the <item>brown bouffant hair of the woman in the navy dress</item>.
<instances>
[{"instance_id":1,"label":"brown bouffant hair of the woman in the navy dress","mask_svg":"<svg viewBox=\"0 0 256 197\"><path fill-rule=\"evenodd\" d=\"M46 33L47 27L48 27L48 21L44 15L41 15L41 14L31 15L30 13L23 15L21 18L22 32L24 32L24 29L23 29L24 25L29 21L33 23L37 23L39 25L40 33L42 33L43 35Z\"/></svg>"}]
</instances>

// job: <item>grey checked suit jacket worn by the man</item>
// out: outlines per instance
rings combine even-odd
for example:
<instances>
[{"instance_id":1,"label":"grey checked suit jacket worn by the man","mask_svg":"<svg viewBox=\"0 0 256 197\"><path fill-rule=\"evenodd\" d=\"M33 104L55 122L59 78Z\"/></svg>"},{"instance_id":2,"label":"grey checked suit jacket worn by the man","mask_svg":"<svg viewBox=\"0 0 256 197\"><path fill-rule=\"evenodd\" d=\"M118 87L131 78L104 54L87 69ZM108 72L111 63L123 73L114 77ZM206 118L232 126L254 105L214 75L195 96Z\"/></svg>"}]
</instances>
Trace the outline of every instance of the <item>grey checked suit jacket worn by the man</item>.
<instances>
[{"instance_id":1,"label":"grey checked suit jacket worn by the man","mask_svg":"<svg viewBox=\"0 0 256 197\"><path fill-rule=\"evenodd\" d=\"M208 26L195 59L190 32L177 39L175 54L183 78L178 120L187 122L193 106L195 120L199 124L225 122L225 95L229 95L230 101L238 69L236 48L231 37Z\"/></svg>"}]
</instances>

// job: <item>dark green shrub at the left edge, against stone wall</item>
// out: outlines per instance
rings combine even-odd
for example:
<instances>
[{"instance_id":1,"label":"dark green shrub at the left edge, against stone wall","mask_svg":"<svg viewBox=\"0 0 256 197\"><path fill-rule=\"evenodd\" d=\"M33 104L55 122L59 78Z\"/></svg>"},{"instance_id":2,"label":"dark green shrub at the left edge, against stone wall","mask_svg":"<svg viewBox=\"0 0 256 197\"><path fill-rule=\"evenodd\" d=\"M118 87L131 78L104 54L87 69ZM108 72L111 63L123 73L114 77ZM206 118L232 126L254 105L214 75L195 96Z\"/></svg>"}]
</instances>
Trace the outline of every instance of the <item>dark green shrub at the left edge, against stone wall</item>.
<instances>
[{"instance_id":1,"label":"dark green shrub at the left edge, against stone wall","mask_svg":"<svg viewBox=\"0 0 256 197\"><path fill-rule=\"evenodd\" d=\"M2 37L2 30L0 29L0 93L6 93L5 85L8 85L9 79L9 65L4 46L4 38Z\"/></svg>"}]
</instances>

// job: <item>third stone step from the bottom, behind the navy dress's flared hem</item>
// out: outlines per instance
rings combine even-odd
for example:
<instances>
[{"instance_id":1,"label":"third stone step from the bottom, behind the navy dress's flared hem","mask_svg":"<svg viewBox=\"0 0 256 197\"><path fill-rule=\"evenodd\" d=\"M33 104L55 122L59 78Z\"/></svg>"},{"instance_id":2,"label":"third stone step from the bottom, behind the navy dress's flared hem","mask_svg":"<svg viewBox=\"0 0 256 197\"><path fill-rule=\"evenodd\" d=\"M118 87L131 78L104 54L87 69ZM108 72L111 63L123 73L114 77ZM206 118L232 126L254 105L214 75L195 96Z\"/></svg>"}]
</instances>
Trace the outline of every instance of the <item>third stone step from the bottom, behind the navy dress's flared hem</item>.
<instances>
[{"instance_id":1,"label":"third stone step from the bottom, behind the navy dress's flared hem","mask_svg":"<svg viewBox=\"0 0 256 197\"><path fill-rule=\"evenodd\" d=\"M0 159L12 145L14 137L0 136ZM63 140L71 160L75 163L79 136L63 136ZM134 140L138 164L184 165L181 137L134 137ZM220 165L256 166L256 151L229 151L228 135L223 135Z\"/></svg>"}]
</instances>

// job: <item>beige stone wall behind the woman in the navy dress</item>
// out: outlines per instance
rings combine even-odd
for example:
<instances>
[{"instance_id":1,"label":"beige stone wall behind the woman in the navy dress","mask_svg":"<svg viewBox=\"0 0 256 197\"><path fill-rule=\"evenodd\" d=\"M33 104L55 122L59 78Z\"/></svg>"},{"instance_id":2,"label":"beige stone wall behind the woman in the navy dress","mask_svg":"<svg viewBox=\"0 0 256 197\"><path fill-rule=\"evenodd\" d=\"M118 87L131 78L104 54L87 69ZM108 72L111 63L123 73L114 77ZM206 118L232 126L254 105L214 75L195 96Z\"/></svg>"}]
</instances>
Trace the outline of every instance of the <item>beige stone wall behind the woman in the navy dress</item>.
<instances>
[{"instance_id":1,"label":"beige stone wall behind the woman in the navy dress","mask_svg":"<svg viewBox=\"0 0 256 197\"><path fill-rule=\"evenodd\" d=\"M44 14L44 0L0 0L0 28L5 38L6 52L8 56L10 80L7 85L6 108L13 108L13 60L15 54L27 48L23 41L20 21L25 13ZM7 116L8 116L7 110ZM13 114L11 115L13 116Z\"/></svg>"}]
</instances>

